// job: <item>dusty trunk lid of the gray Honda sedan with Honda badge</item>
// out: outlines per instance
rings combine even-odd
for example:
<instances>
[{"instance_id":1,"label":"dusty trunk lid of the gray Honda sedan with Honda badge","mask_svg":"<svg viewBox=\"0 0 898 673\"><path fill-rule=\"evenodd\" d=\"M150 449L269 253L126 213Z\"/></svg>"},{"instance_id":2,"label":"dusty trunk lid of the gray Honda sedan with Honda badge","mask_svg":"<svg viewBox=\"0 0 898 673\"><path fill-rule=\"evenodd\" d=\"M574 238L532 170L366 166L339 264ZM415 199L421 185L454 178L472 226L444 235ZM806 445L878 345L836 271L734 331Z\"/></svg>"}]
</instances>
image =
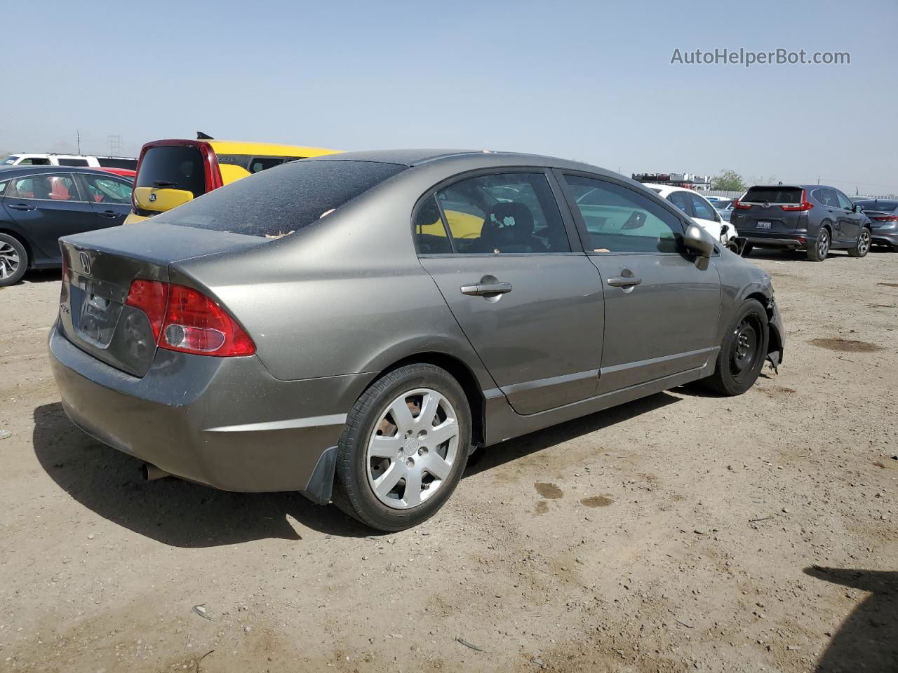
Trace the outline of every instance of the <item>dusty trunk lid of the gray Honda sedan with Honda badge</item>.
<instances>
[{"instance_id":1,"label":"dusty trunk lid of the gray Honda sedan with Honda badge","mask_svg":"<svg viewBox=\"0 0 898 673\"><path fill-rule=\"evenodd\" d=\"M156 338L146 314L128 305L131 283L136 278L166 283L174 262L266 242L169 224L68 236L60 240L64 258L60 329L101 362L142 377L153 363Z\"/></svg>"}]
</instances>

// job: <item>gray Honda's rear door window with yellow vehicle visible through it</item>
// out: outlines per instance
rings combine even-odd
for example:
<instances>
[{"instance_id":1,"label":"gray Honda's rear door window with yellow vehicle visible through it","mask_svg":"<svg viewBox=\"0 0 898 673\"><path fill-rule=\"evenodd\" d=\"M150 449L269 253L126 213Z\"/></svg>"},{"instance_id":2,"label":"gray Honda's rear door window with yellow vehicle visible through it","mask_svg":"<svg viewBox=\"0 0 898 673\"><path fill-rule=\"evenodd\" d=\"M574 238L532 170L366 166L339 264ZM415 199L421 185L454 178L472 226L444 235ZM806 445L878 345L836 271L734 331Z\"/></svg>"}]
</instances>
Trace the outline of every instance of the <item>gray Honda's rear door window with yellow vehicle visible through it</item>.
<instances>
[{"instance_id":1,"label":"gray Honda's rear door window with yellow vehicle visible through it","mask_svg":"<svg viewBox=\"0 0 898 673\"><path fill-rule=\"evenodd\" d=\"M455 253L570 252L559 206L544 173L497 173L465 179L440 189L436 201ZM439 237L436 221L425 223L431 214L418 212L416 230L421 236ZM422 241L427 243L418 238L421 251L426 247Z\"/></svg>"}]
</instances>

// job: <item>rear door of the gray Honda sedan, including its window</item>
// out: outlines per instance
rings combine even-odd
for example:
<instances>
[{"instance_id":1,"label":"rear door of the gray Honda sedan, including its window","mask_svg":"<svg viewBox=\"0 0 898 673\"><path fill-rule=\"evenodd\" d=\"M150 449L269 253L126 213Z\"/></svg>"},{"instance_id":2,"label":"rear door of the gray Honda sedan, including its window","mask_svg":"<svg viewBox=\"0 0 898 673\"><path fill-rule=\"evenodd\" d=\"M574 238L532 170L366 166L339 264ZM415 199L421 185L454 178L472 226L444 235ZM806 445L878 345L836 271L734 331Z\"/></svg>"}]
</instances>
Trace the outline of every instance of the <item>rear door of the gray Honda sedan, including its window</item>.
<instances>
[{"instance_id":1,"label":"rear door of the gray Honda sedan, including its window","mask_svg":"<svg viewBox=\"0 0 898 673\"><path fill-rule=\"evenodd\" d=\"M468 174L419 202L415 236L465 336L518 414L594 394L603 291L540 169Z\"/></svg>"}]
</instances>

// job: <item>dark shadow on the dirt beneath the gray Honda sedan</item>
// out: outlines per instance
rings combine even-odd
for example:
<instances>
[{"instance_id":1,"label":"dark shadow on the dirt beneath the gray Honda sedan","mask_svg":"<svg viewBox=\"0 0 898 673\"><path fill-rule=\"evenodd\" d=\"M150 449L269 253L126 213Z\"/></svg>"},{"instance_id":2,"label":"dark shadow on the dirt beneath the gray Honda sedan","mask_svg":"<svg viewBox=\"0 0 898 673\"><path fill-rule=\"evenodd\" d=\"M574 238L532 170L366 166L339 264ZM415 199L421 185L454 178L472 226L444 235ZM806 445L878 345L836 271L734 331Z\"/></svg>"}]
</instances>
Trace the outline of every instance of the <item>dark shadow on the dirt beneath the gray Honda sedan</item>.
<instances>
[{"instance_id":1,"label":"dark shadow on the dirt beneath the gray Honda sedan","mask_svg":"<svg viewBox=\"0 0 898 673\"><path fill-rule=\"evenodd\" d=\"M659 393L479 450L465 476L593 433L678 399ZM165 545L207 547L264 538L301 539L290 518L329 535L377 534L336 506L322 507L294 492L230 493L176 478L147 483L140 475L141 460L83 433L68 420L58 402L34 410L32 441L41 467L75 501L104 519Z\"/></svg>"}]
</instances>

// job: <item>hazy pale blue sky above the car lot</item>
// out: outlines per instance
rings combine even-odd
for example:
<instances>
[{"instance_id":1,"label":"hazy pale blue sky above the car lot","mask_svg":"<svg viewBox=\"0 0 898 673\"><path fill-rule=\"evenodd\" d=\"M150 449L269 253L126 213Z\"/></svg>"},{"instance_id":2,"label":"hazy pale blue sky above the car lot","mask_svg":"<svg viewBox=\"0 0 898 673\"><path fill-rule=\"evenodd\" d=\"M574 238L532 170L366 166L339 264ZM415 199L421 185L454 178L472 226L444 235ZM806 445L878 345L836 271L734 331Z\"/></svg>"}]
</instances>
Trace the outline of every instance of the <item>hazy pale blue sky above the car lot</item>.
<instances>
[{"instance_id":1,"label":"hazy pale blue sky above the car lot","mask_svg":"<svg viewBox=\"0 0 898 673\"><path fill-rule=\"evenodd\" d=\"M898 192L898 2L0 0L0 151L161 137L549 153ZM674 48L850 66L671 65ZM884 187L880 188L879 185Z\"/></svg>"}]
</instances>

